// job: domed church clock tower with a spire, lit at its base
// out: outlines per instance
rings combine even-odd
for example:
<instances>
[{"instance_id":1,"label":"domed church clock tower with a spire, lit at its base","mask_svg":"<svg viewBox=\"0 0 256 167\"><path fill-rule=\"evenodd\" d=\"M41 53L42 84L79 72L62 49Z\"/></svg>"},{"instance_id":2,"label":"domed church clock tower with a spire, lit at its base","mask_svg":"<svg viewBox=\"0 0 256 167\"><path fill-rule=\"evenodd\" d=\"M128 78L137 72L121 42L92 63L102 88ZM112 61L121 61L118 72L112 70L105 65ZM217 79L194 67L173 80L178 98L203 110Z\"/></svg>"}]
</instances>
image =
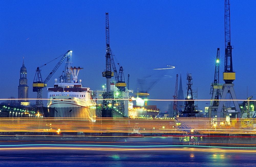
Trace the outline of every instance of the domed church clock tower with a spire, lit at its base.
<instances>
[{"instance_id":1,"label":"domed church clock tower with a spire, lit at its base","mask_svg":"<svg viewBox=\"0 0 256 167\"><path fill-rule=\"evenodd\" d=\"M23 58L23 65L20 68L18 98L19 99L26 99L26 100L18 100L20 102L20 105L29 106L30 102L28 102L28 100L27 100L27 98L28 98L27 68L24 65L24 58Z\"/></svg>"}]
</instances>

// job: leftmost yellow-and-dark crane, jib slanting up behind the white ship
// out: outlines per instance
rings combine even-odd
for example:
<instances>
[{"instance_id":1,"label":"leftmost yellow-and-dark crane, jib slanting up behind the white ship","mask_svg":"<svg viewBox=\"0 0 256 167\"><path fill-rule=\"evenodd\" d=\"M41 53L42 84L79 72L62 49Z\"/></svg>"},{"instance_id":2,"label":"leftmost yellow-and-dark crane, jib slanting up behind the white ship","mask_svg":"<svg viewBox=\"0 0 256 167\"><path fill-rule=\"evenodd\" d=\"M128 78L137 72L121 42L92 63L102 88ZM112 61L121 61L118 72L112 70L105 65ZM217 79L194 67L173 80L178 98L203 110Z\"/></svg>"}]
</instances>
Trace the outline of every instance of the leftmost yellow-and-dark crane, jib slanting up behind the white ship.
<instances>
[{"instance_id":1,"label":"leftmost yellow-and-dark crane, jib slanting up behind the white ship","mask_svg":"<svg viewBox=\"0 0 256 167\"><path fill-rule=\"evenodd\" d=\"M40 68L47 65L48 63L37 67L36 69L36 75L34 77L34 82L33 82L33 92L37 92L37 100L36 100L36 106L37 107L43 107L43 101L42 101L42 88L45 88L47 85L46 83L50 80L52 75L56 72L56 70L60 67L61 63L65 60L65 58L72 53L72 50L69 50L66 52L60 61L57 63L57 65L54 67L54 69L50 72L50 74L46 77L45 80L42 80L41 76L41 70ZM51 62L51 61L50 61Z\"/></svg>"}]
</instances>

